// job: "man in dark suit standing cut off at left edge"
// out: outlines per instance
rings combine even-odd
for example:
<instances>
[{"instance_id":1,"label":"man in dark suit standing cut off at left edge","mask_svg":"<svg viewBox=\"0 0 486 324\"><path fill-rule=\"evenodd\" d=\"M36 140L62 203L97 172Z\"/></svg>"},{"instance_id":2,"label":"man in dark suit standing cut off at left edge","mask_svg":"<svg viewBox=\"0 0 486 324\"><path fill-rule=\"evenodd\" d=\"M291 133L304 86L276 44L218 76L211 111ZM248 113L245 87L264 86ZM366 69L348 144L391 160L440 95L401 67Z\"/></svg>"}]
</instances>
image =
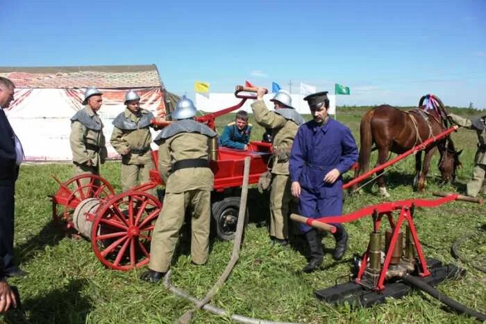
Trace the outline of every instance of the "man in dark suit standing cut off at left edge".
<instances>
[{"instance_id":1,"label":"man in dark suit standing cut off at left edge","mask_svg":"<svg viewBox=\"0 0 486 324\"><path fill-rule=\"evenodd\" d=\"M0 257L7 277L24 275L13 264L15 181L24 152L3 109L13 100L15 85L0 76Z\"/></svg>"}]
</instances>

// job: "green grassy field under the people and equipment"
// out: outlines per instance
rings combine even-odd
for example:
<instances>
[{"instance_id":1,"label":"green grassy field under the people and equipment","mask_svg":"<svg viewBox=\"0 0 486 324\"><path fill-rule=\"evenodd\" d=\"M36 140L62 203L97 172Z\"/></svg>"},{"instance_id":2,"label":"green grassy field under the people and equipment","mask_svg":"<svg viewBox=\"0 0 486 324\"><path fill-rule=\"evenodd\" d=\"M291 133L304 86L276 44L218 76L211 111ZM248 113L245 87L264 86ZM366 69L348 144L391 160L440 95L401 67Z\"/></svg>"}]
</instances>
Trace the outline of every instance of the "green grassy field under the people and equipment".
<instances>
[{"instance_id":1,"label":"green grassy field under the people and equipment","mask_svg":"<svg viewBox=\"0 0 486 324\"><path fill-rule=\"evenodd\" d=\"M357 140L364 108L338 109L337 119L348 125ZM477 115L478 111L460 111L461 115ZM221 126L233 120L234 115L218 120ZM309 120L309 116L305 116ZM262 129L254 122L253 139L260 140ZM434 157L425 194L412 190L414 159L398 163L388 172L390 200L411 197L431 199L433 191L464 192L471 175L476 135L460 130L453 134L456 147L464 149L454 184L441 186ZM119 163L110 162L101 170L120 192ZM7 323L173 323L192 304L178 298L162 284L140 282L144 269L122 273L108 270L96 259L91 245L85 240L65 237L53 225L51 202L58 184L51 178L67 180L72 176L69 164L22 165L17 181L15 206L15 252L17 261L28 275L9 280L19 287L26 309L26 320L19 314L0 317ZM346 175L349 180L350 174ZM365 188L360 195L346 196L344 212L348 213L382 200L376 187ZM292 248L271 245L266 221L268 205L265 196L254 188L249 194L250 223L242 245L240 260L223 289L212 300L213 305L231 314L262 318L267 321L299 323L473 323L444 309L440 302L424 293L413 293L400 300L388 300L384 305L369 309L351 309L347 305L333 307L319 302L313 292L345 282L353 253L362 253L367 246L371 220L362 219L346 225L350 234L349 252L342 261L335 262L326 254L324 270L303 274L305 256ZM435 209L418 209L415 220L419 237L427 257L440 259L467 269L460 280L448 281L439 289L451 298L472 309L486 312L486 275L469 264L451 257L451 244L464 234L475 234L476 241L465 242L462 252L469 258L483 257L485 266L485 234L480 227L486 224L486 207L465 202L451 202ZM476 245L475 243L476 242ZM333 248L333 239L324 238L326 248ZM232 242L213 240L206 266L190 264L188 254L174 260L172 283L197 298L210 289L228 263ZM212 315L206 311L194 314L193 323L232 323L230 318Z\"/></svg>"}]
</instances>

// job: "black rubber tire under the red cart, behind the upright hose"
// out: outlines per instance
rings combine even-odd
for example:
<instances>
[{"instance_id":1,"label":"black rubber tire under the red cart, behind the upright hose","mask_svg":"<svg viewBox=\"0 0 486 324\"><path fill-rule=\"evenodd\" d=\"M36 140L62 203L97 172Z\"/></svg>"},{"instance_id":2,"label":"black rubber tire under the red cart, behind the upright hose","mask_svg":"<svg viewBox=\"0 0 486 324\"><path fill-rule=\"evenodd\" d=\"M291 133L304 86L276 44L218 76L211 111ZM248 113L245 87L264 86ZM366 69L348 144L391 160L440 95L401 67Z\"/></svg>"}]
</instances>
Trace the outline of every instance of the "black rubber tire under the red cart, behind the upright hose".
<instances>
[{"instance_id":1,"label":"black rubber tire under the red cart, behind the upright hose","mask_svg":"<svg viewBox=\"0 0 486 324\"><path fill-rule=\"evenodd\" d=\"M211 205L212 218L215 220L216 235L222 241L235 239L236 224L240 211L240 197L225 197ZM248 207L245 211L244 226L248 224Z\"/></svg>"}]
</instances>

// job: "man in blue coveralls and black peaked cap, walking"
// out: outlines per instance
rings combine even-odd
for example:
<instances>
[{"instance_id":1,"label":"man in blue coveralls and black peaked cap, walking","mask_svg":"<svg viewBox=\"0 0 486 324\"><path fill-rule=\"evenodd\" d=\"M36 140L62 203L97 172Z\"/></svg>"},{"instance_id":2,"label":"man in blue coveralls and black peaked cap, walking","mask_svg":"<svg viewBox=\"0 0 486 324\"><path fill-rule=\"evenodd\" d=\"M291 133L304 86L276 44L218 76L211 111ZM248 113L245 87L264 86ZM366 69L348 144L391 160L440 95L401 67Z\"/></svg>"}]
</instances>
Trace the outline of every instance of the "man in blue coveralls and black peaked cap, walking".
<instances>
[{"instance_id":1,"label":"man in blue coveralls and black peaked cap, walking","mask_svg":"<svg viewBox=\"0 0 486 324\"><path fill-rule=\"evenodd\" d=\"M312 118L301 127L290 153L291 191L299 198L301 215L310 218L342 214L342 177L358 160L358 147L348 127L329 118L327 91L304 98ZM334 234L333 258L342 259L347 249L348 234L340 224ZM301 224L310 248L310 262L302 270L311 273L322 264L324 250L317 229Z\"/></svg>"}]
</instances>

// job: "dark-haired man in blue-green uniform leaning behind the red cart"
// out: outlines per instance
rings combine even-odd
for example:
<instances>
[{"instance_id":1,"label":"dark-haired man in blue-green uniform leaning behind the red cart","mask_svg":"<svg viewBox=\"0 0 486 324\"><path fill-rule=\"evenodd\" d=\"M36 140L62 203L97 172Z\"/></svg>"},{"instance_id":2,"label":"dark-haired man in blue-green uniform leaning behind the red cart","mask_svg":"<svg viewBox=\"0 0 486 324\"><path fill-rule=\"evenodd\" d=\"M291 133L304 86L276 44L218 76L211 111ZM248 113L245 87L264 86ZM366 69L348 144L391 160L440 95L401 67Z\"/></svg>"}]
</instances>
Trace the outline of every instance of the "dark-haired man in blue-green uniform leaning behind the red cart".
<instances>
[{"instance_id":1,"label":"dark-haired man in blue-green uniform leaning behind the red cart","mask_svg":"<svg viewBox=\"0 0 486 324\"><path fill-rule=\"evenodd\" d=\"M219 138L219 145L247 151L250 136L251 124L248 123L248 113L246 111L238 111L235 121L224 127L223 134Z\"/></svg>"}]
</instances>

